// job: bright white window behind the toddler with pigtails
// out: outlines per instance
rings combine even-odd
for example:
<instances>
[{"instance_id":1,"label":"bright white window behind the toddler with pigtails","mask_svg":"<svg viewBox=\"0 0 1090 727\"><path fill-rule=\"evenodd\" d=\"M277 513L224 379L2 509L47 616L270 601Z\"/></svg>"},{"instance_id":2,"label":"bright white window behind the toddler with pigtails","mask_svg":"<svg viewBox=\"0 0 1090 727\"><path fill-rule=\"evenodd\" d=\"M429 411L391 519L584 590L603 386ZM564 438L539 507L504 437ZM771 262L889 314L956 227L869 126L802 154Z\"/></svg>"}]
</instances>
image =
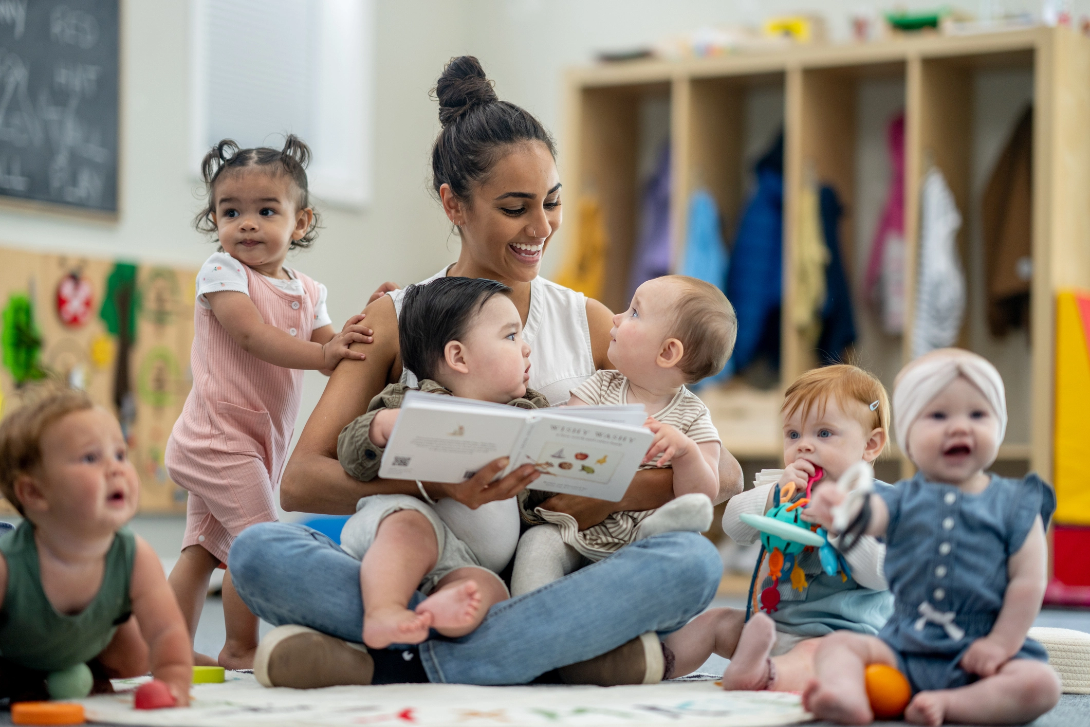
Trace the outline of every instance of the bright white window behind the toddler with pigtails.
<instances>
[{"instance_id":1,"label":"bright white window behind the toddler with pigtails","mask_svg":"<svg viewBox=\"0 0 1090 727\"><path fill-rule=\"evenodd\" d=\"M374 0L192 0L194 169L221 138L293 133L314 153L311 191L371 198Z\"/></svg>"}]
</instances>

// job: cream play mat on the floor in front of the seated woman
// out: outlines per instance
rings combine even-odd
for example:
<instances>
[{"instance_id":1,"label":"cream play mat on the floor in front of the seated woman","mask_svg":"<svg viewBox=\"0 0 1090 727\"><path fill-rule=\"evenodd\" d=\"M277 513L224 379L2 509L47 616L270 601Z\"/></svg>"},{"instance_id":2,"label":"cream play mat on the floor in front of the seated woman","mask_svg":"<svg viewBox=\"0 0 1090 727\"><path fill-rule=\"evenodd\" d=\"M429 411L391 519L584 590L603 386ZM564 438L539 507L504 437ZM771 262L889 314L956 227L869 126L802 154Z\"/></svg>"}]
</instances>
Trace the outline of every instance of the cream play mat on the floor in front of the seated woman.
<instances>
[{"instance_id":1,"label":"cream play mat on the floor in front of the seated woman","mask_svg":"<svg viewBox=\"0 0 1090 727\"><path fill-rule=\"evenodd\" d=\"M796 694L725 692L710 680L608 689L390 684L295 690L265 689L253 675L229 671L225 683L194 684L187 710L137 711L133 690L145 680L116 681L118 693L82 700L87 719L149 727L758 727L811 719Z\"/></svg>"}]
</instances>

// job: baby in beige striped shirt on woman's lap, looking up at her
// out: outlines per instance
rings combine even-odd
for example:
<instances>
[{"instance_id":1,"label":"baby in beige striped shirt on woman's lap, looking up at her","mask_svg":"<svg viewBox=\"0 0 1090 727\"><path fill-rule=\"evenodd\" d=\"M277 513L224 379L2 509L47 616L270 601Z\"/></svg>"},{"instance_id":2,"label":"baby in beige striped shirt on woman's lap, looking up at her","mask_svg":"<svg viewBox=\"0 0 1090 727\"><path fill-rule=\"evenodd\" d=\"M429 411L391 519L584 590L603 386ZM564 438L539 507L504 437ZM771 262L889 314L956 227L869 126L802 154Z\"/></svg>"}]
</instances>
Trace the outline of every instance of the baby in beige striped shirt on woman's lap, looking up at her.
<instances>
[{"instance_id":1,"label":"baby in beige striped shirt on woman's lap, looking up at her","mask_svg":"<svg viewBox=\"0 0 1090 727\"><path fill-rule=\"evenodd\" d=\"M680 275L640 286L628 310L613 318L609 361L572 389L569 405L643 404L655 439L641 469L673 468L674 496L656 510L621 510L580 531L565 512L540 507L550 493L519 495L522 519L536 526L519 541L511 593L550 583L588 561L670 531L702 532L712 524L712 498L719 489L723 443L707 407L687 384L717 374L734 350L738 320L715 286ZM626 500L618 505L625 507Z\"/></svg>"}]
</instances>

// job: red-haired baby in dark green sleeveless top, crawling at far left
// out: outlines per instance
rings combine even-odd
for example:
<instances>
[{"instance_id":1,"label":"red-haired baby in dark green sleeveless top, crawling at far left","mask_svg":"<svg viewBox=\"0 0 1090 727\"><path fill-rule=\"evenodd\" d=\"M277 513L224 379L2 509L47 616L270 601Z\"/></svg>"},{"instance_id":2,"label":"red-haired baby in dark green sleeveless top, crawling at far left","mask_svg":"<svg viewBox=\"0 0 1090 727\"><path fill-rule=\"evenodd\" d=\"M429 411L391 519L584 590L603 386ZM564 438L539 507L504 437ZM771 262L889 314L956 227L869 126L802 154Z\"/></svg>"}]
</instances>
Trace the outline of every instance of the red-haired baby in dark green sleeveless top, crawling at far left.
<instances>
[{"instance_id":1,"label":"red-haired baby in dark green sleeveless top, crawling at far left","mask_svg":"<svg viewBox=\"0 0 1090 727\"><path fill-rule=\"evenodd\" d=\"M0 699L76 699L150 669L189 704L189 630L159 559L125 528L140 478L118 420L83 391L0 423Z\"/></svg>"}]
</instances>

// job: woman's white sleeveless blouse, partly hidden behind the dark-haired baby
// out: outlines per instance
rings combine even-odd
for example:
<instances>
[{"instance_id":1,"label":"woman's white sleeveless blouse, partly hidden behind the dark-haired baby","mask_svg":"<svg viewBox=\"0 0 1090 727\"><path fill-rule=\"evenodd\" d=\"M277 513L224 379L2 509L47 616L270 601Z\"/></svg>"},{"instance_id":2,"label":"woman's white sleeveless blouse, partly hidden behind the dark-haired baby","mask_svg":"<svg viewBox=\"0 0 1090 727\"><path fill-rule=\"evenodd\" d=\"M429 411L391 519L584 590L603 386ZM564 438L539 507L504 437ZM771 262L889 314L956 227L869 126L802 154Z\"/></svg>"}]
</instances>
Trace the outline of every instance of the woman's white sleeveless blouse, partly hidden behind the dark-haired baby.
<instances>
[{"instance_id":1,"label":"woman's white sleeveless blouse, partly hidden behind the dark-haired baby","mask_svg":"<svg viewBox=\"0 0 1090 727\"><path fill-rule=\"evenodd\" d=\"M420 284L447 275L444 268ZM403 290L387 293L401 315ZM522 329L530 344L530 388L545 395L555 407L570 398L571 389L594 373L591 327L586 323L586 296L537 276L530 282L530 314ZM416 385L416 376L401 372L401 383Z\"/></svg>"}]
</instances>

